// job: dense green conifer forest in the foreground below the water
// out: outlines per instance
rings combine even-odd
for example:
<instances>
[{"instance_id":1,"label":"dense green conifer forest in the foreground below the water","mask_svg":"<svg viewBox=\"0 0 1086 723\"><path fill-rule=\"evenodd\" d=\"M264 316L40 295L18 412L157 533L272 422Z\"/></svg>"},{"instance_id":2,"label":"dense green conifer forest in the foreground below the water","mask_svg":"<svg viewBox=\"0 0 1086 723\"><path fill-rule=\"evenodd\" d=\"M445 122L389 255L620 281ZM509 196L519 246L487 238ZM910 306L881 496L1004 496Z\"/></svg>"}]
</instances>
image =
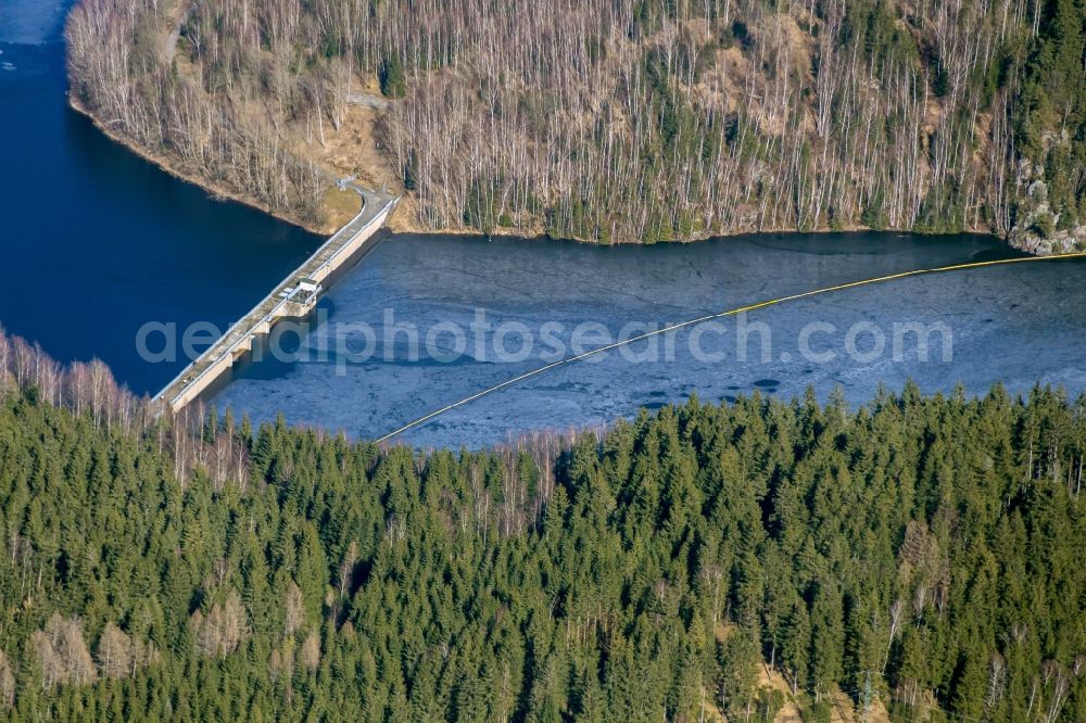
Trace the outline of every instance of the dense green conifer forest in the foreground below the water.
<instances>
[{"instance_id":1,"label":"dense green conifer forest in the foreground below the water","mask_svg":"<svg viewBox=\"0 0 1086 723\"><path fill-rule=\"evenodd\" d=\"M1083 403L998 388L192 436L0 335L0 716L1082 721L1084 455Z\"/></svg>"}]
</instances>

